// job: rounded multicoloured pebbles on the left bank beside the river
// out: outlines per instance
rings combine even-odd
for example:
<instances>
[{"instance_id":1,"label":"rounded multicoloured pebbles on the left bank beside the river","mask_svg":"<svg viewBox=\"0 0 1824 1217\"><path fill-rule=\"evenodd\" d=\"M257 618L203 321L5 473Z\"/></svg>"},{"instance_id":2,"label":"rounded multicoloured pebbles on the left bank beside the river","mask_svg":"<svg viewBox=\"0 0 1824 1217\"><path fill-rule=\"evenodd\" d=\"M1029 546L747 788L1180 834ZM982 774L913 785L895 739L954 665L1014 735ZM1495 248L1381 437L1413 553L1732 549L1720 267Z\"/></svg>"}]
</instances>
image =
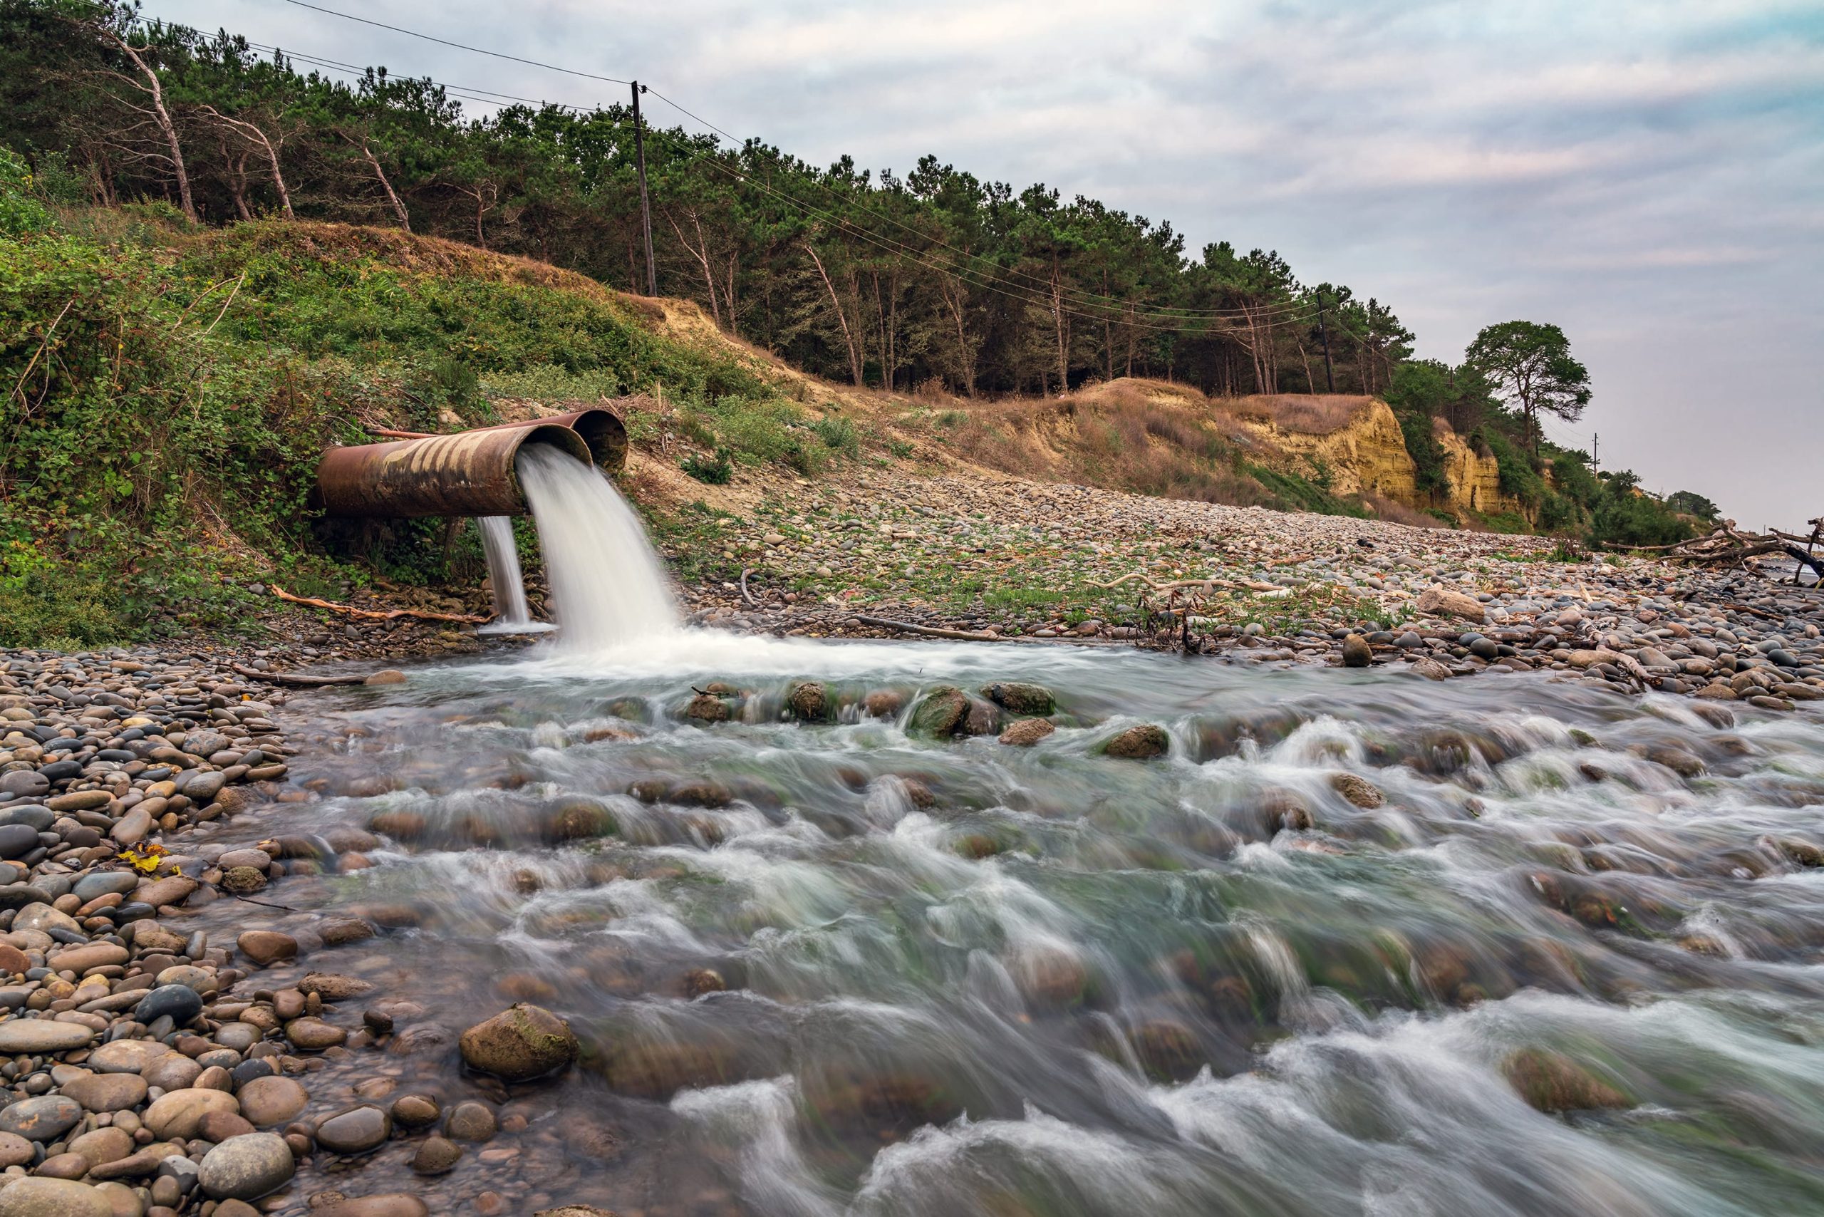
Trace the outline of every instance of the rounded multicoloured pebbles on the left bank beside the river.
<instances>
[{"instance_id":1,"label":"rounded multicoloured pebbles on the left bank beside the river","mask_svg":"<svg viewBox=\"0 0 1824 1217\"><path fill-rule=\"evenodd\" d=\"M458 1142L494 1135L487 1104L443 1111L430 1095L306 1118L301 1078L392 1038L381 1009L341 1014L372 985L308 973L263 987L261 969L317 943L261 929L215 941L184 925L316 865L295 837L210 841L243 810L308 797L285 786L297 752L275 723L285 692L235 673L237 659L254 657L0 651L0 1217L306 1204L316 1217L427 1217L405 1191L303 1197L290 1184L317 1157L394 1133L421 1137L412 1170L436 1175L461 1159ZM354 916L316 927L326 947L376 932ZM547 1011L513 1007L471 1027L460 1053L474 1073L525 1082L565 1069L576 1038Z\"/></svg>"}]
</instances>

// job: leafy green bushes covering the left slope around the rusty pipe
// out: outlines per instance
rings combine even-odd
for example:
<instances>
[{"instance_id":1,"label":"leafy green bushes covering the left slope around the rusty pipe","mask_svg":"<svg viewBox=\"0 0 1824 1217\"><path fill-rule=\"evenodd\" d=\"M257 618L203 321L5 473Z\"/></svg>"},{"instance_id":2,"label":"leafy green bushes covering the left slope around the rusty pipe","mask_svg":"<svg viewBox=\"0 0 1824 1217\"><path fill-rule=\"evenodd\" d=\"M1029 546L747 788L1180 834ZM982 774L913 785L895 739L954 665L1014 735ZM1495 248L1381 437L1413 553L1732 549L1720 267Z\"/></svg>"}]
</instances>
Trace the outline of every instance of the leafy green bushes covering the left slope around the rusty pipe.
<instances>
[{"instance_id":1,"label":"leafy green bushes covering the left slope around the rusty pipe","mask_svg":"<svg viewBox=\"0 0 1824 1217\"><path fill-rule=\"evenodd\" d=\"M474 542L438 522L361 540L312 522L317 454L368 425L662 380L748 452L799 443L781 440L799 407L733 354L668 341L576 276L372 230L58 210L0 153L0 646L228 628L255 582L467 573Z\"/></svg>"}]
</instances>

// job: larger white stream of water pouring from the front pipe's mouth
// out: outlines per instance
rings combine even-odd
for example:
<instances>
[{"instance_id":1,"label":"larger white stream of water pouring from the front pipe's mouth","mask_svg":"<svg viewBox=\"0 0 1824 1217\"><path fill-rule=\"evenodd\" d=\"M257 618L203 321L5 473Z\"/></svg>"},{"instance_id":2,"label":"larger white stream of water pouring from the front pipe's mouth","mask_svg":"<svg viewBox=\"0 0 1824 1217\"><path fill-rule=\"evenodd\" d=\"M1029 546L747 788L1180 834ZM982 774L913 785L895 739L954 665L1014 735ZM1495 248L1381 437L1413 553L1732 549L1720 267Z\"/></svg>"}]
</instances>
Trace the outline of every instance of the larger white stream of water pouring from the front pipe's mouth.
<instances>
[{"instance_id":1,"label":"larger white stream of water pouring from the front pipe's mouth","mask_svg":"<svg viewBox=\"0 0 1824 1217\"><path fill-rule=\"evenodd\" d=\"M565 651L602 651L677 633L664 567L615 484L544 443L520 449L525 502L538 524L545 580Z\"/></svg>"}]
</instances>

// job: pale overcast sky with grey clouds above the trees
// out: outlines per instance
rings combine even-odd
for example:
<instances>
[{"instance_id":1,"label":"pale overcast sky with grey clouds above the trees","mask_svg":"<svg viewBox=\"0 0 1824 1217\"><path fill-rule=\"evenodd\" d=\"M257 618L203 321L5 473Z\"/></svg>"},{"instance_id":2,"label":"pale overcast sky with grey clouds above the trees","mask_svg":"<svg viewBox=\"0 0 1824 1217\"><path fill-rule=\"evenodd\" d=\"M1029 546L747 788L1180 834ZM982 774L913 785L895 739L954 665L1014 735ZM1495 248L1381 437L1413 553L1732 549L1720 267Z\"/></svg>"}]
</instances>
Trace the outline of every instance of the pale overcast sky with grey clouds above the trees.
<instances>
[{"instance_id":1,"label":"pale overcast sky with grey clouds above the trees","mask_svg":"<svg viewBox=\"0 0 1824 1217\"><path fill-rule=\"evenodd\" d=\"M826 164L923 153L1277 248L1459 361L1554 321L1554 425L1746 525L1824 513L1824 5L1817 0L319 0L609 77ZM148 15L569 104L626 89L283 0ZM655 122L682 115L649 102ZM695 124L688 124L695 126Z\"/></svg>"}]
</instances>

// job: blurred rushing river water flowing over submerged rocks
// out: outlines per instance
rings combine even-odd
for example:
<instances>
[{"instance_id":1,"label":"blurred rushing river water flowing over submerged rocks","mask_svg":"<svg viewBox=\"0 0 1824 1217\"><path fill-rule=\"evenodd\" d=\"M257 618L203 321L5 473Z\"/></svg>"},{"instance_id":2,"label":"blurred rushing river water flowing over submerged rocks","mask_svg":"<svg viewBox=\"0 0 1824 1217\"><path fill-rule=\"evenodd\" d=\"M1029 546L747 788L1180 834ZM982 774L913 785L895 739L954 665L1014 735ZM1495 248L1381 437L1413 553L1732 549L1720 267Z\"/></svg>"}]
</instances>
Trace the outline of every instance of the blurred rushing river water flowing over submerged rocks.
<instances>
[{"instance_id":1,"label":"blurred rushing river water flowing over submerged rocks","mask_svg":"<svg viewBox=\"0 0 1824 1217\"><path fill-rule=\"evenodd\" d=\"M786 719L803 677L832 721ZM1034 748L863 710L1009 679L1058 695ZM689 723L710 681L746 697ZM710 633L299 704L319 746L295 775L323 799L230 832L374 865L294 863L272 898L295 916L204 916L398 927L297 965L367 976L398 1014L390 1051L319 1078L529 1120L441 1179L414 1181L398 1140L361 1181L323 1177L350 1195L644 1217L1824 1212L1824 870L1791 859L1824 839L1817 717L1731 723L1543 675ZM1142 721L1169 755L1100 752ZM454 1033L511 1000L569 1018L580 1067L463 1077ZM1529 1106L1508 1078L1541 1060L1545 1106L1594 1108Z\"/></svg>"}]
</instances>

